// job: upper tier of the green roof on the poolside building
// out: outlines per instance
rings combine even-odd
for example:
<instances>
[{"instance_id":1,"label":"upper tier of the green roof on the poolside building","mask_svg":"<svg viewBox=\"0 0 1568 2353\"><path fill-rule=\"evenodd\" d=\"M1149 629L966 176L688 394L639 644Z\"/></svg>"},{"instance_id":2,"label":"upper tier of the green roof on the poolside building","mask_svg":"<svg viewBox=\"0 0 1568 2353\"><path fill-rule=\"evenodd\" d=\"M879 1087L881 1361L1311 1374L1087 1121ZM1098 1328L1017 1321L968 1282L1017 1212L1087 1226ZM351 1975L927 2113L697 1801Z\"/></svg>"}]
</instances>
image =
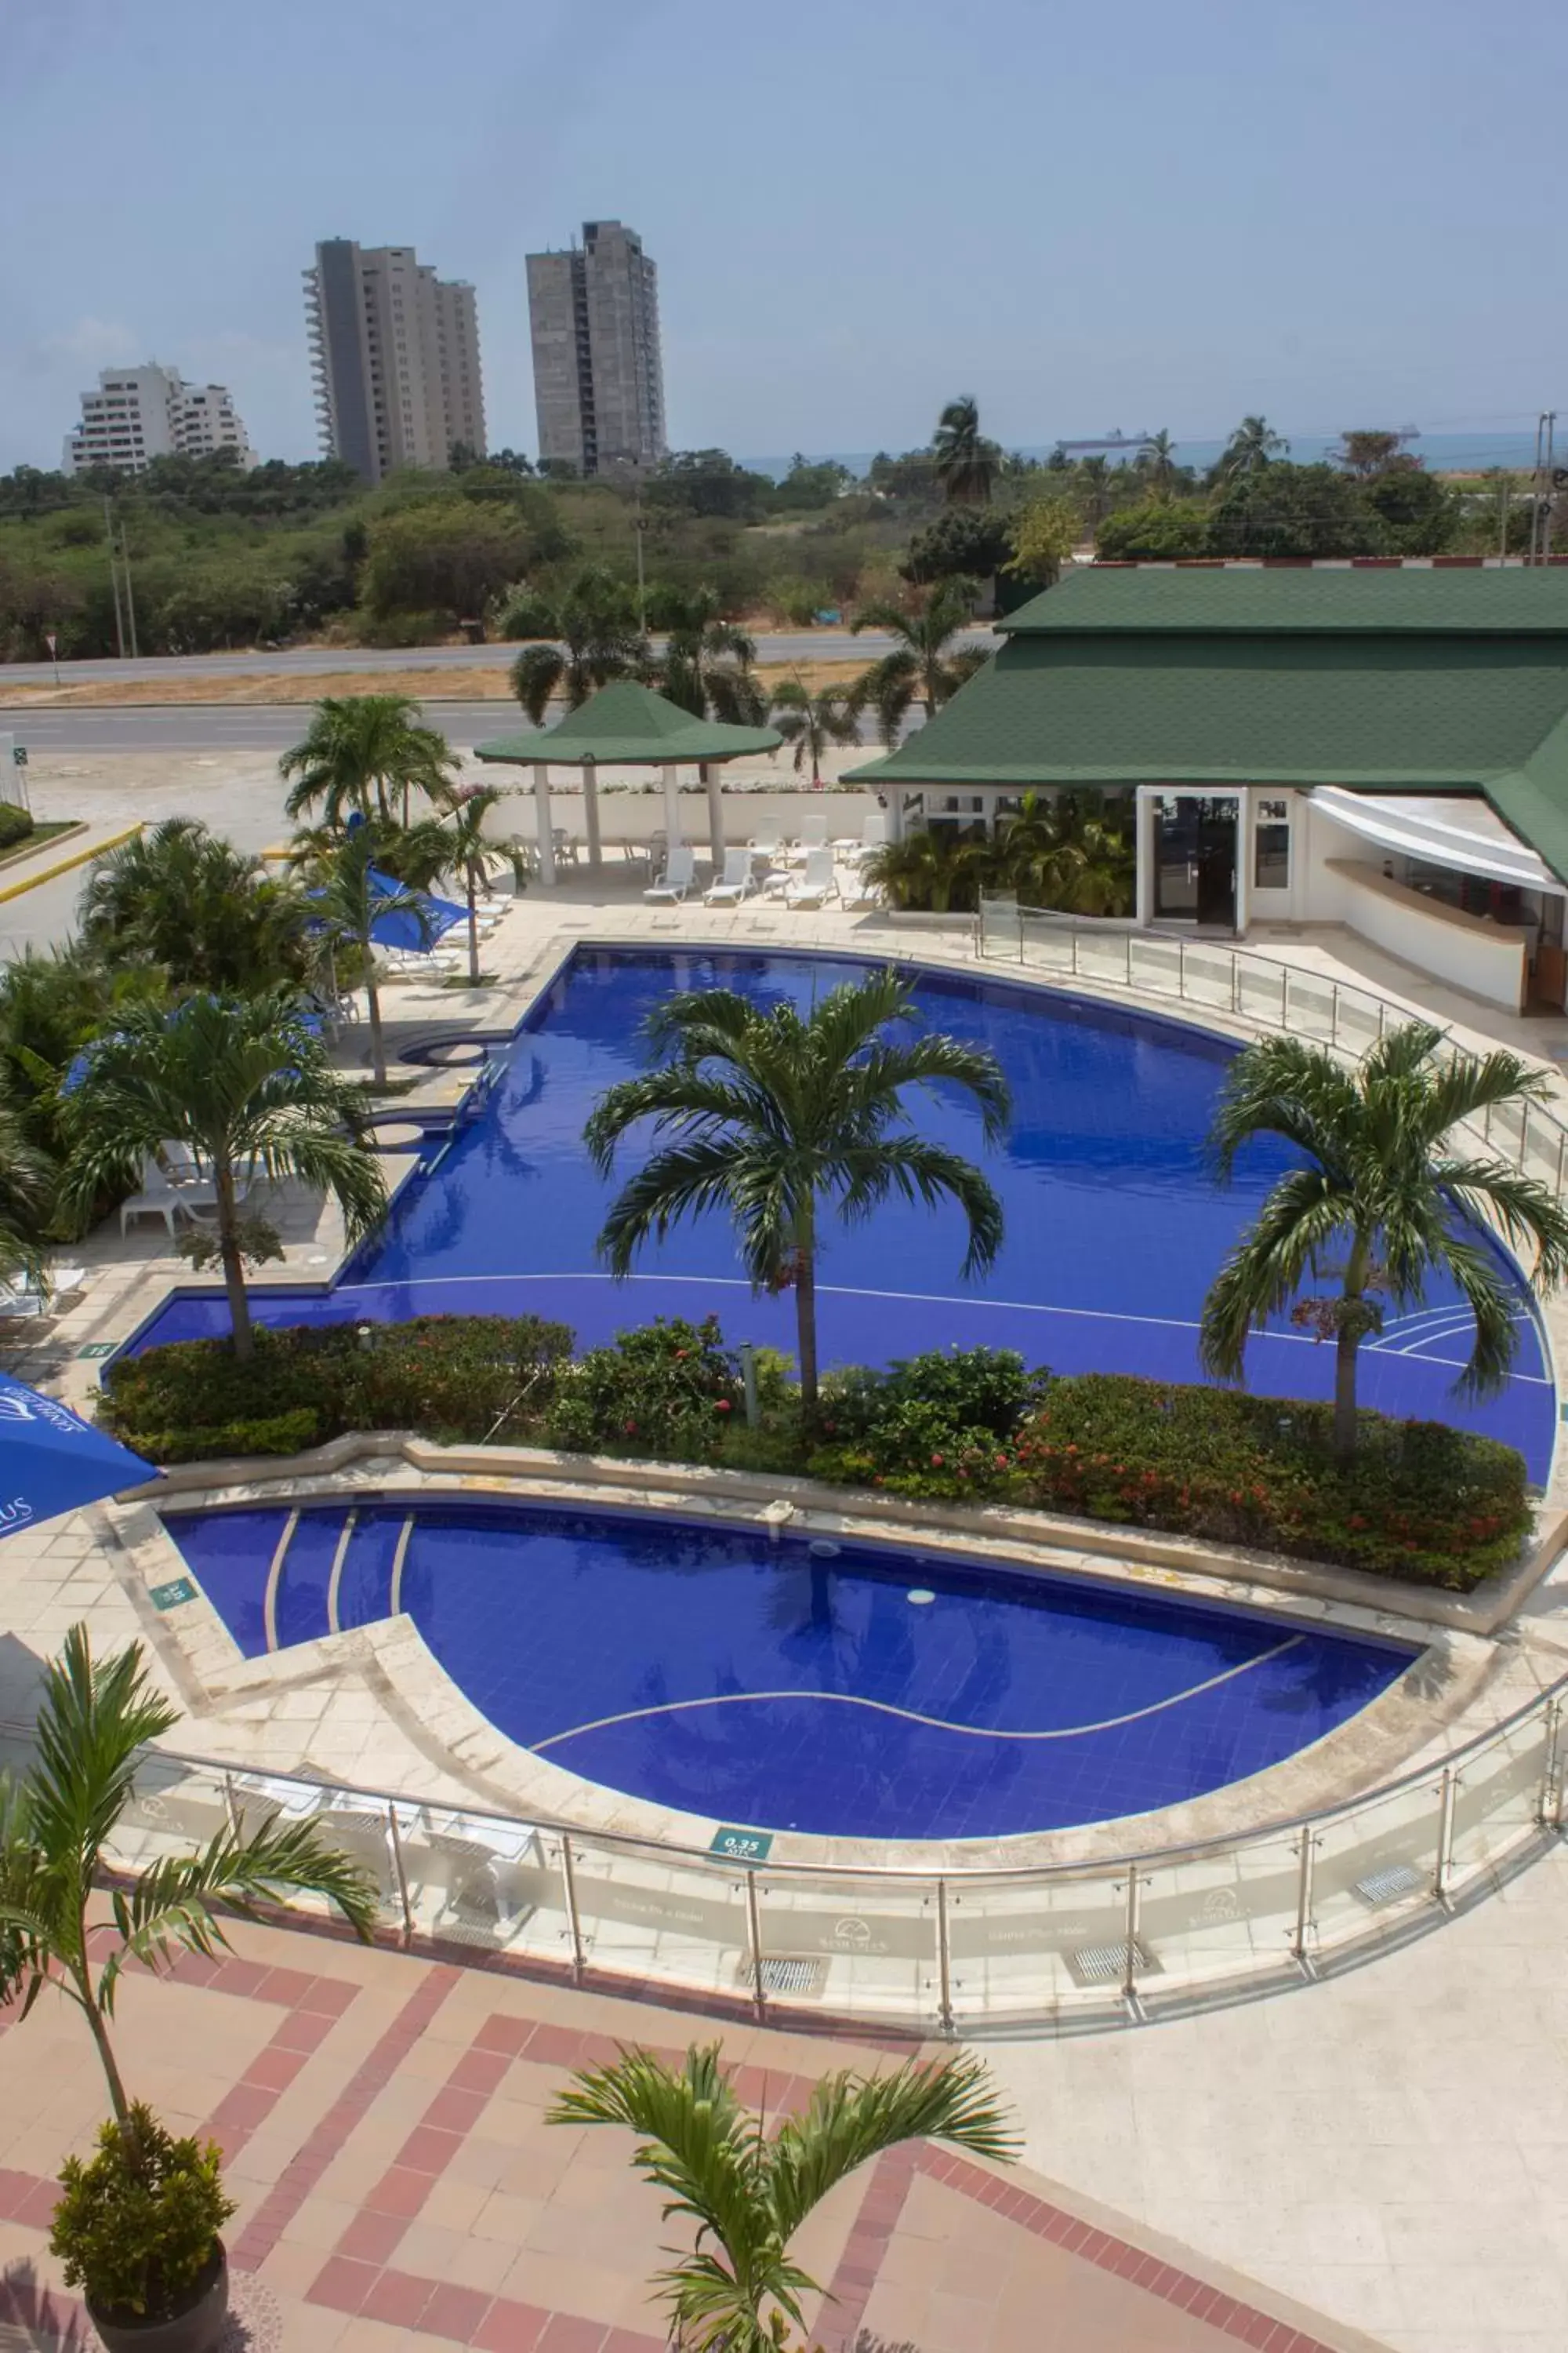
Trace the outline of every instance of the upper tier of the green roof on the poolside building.
<instances>
[{"instance_id":1,"label":"upper tier of the green roof on the poolside building","mask_svg":"<svg viewBox=\"0 0 1568 2353\"><path fill-rule=\"evenodd\" d=\"M1568 633L1568 565L1507 572L1408 567L1081 565L1009 612L1009 638L1041 631L1476 631Z\"/></svg>"}]
</instances>

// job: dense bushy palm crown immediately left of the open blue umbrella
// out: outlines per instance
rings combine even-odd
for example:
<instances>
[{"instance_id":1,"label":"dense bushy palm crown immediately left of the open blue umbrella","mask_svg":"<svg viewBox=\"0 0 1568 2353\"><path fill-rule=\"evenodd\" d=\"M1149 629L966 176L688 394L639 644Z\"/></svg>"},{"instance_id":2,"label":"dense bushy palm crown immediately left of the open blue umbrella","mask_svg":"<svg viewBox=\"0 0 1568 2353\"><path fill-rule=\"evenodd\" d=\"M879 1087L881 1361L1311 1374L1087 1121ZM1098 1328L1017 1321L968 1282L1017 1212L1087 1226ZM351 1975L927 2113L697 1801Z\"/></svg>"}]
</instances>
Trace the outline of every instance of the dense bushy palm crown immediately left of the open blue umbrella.
<instances>
[{"instance_id":1,"label":"dense bushy palm crown immediately left of the open blue umbrella","mask_svg":"<svg viewBox=\"0 0 1568 2353\"><path fill-rule=\"evenodd\" d=\"M195 816L94 859L80 915L103 958L162 965L188 988L268 988L303 969L299 892Z\"/></svg>"}]
</instances>

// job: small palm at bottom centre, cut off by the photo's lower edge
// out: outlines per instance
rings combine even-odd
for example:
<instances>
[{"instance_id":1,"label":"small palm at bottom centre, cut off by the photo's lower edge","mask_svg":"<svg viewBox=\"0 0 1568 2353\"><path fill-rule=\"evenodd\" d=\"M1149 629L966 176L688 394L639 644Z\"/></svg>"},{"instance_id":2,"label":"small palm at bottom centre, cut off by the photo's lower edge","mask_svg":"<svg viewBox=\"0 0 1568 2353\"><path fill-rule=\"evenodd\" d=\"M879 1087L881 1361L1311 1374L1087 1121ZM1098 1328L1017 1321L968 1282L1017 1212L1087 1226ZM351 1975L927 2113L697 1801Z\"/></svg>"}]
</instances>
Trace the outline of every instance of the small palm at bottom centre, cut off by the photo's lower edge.
<instances>
[{"instance_id":1,"label":"small palm at bottom centre, cut off by the photo's lower edge","mask_svg":"<svg viewBox=\"0 0 1568 2353\"><path fill-rule=\"evenodd\" d=\"M644 2049L578 2068L550 2125L623 2125L639 2137L632 2165L663 2193L663 2214L696 2224L696 2245L656 2285L686 2353L783 2353L806 2332L802 2297L818 2294L790 2242L820 2200L900 2141L947 2141L1009 2162L1018 2137L992 2094L985 2061L907 2059L886 2075L823 2075L802 2115L773 2129L748 2111L719 2066L719 2045L672 2068ZM670 2249L675 2252L675 2249Z\"/></svg>"}]
</instances>

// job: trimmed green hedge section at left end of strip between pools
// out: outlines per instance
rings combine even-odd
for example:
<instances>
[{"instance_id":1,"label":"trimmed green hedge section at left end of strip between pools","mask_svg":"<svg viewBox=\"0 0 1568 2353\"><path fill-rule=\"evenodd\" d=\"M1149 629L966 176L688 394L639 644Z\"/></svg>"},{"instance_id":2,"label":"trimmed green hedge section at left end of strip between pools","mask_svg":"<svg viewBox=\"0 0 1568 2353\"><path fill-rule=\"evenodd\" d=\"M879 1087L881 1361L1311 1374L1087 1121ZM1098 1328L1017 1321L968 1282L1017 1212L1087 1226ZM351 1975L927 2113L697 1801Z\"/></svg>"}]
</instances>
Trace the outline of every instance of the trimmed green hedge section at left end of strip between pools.
<instances>
[{"instance_id":1,"label":"trimmed green hedge section at left end of strip between pools","mask_svg":"<svg viewBox=\"0 0 1568 2353\"><path fill-rule=\"evenodd\" d=\"M524 1440L536 1433L569 1355L571 1329L538 1315L259 1327L249 1362L226 1341L197 1339L113 1365L99 1419L141 1452L153 1442L172 1447L160 1461L247 1452L233 1445L237 1431L277 1431L301 1414L313 1417L301 1445L346 1431ZM280 1442L249 1452L294 1452L277 1435Z\"/></svg>"}]
</instances>

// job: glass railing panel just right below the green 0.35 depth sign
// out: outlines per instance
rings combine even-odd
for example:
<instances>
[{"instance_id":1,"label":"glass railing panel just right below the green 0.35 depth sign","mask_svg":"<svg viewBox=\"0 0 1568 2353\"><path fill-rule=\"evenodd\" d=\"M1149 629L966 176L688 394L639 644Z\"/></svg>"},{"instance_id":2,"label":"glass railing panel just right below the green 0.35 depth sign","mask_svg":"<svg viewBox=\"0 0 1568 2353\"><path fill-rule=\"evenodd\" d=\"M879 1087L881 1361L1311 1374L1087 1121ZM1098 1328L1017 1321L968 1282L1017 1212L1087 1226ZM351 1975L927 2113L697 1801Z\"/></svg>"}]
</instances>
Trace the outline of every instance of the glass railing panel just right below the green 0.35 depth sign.
<instances>
[{"instance_id":1,"label":"glass railing panel just right below the green 0.35 depth sign","mask_svg":"<svg viewBox=\"0 0 1568 2353\"><path fill-rule=\"evenodd\" d=\"M936 2019L936 1882L757 1873L762 1988L790 2009ZM748 1979L750 1988L750 1979Z\"/></svg>"}]
</instances>

